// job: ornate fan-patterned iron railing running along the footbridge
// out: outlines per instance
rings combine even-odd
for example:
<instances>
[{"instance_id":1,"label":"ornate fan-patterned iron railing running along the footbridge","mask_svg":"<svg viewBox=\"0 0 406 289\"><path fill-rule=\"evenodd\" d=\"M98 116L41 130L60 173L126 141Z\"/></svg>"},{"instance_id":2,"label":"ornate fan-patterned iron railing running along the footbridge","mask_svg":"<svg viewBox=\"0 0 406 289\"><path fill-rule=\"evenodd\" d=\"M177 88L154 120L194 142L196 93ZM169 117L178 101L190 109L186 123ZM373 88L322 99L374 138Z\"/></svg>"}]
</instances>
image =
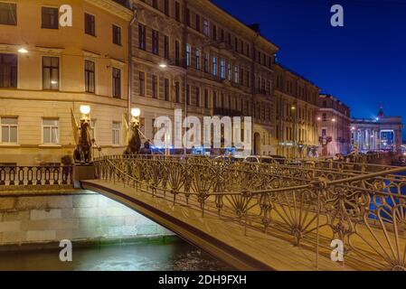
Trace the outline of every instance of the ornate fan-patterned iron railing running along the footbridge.
<instances>
[{"instance_id":1,"label":"ornate fan-patterned iron railing running along the footbridge","mask_svg":"<svg viewBox=\"0 0 406 289\"><path fill-rule=\"evenodd\" d=\"M105 156L100 179L241 222L360 270L406 268L406 168L365 173L206 158ZM333 261L332 261L333 262Z\"/></svg>"}]
</instances>

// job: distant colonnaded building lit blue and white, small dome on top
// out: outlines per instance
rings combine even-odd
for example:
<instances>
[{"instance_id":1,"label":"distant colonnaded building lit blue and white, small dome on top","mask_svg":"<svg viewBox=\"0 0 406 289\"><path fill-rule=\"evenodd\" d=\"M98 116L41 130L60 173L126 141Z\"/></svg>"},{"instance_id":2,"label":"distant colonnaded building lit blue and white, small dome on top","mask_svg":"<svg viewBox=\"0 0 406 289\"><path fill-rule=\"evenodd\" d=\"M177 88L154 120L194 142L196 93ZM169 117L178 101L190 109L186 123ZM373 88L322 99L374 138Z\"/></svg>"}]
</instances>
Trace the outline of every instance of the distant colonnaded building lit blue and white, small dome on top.
<instances>
[{"instance_id":1,"label":"distant colonnaded building lit blue and white, small dome on top","mask_svg":"<svg viewBox=\"0 0 406 289\"><path fill-rule=\"evenodd\" d=\"M352 119L351 141L360 152L401 152L403 128L401 117L385 116L381 107L374 119Z\"/></svg>"}]
</instances>

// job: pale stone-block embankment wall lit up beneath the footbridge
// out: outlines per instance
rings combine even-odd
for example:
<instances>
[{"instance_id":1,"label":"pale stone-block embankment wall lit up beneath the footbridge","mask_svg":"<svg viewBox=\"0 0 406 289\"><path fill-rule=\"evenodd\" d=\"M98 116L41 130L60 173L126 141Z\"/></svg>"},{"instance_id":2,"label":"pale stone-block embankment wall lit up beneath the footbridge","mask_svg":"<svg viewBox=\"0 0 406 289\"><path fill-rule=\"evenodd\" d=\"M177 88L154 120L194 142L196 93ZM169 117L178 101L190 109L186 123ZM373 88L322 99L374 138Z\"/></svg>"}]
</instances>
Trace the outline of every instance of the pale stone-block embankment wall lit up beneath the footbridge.
<instances>
[{"instance_id":1,"label":"pale stone-block embankment wall lit up beneath the footbridge","mask_svg":"<svg viewBox=\"0 0 406 289\"><path fill-rule=\"evenodd\" d=\"M0 196L0 247L173 235L136 211L90 191Z\"/></svg>"}]
</instances>

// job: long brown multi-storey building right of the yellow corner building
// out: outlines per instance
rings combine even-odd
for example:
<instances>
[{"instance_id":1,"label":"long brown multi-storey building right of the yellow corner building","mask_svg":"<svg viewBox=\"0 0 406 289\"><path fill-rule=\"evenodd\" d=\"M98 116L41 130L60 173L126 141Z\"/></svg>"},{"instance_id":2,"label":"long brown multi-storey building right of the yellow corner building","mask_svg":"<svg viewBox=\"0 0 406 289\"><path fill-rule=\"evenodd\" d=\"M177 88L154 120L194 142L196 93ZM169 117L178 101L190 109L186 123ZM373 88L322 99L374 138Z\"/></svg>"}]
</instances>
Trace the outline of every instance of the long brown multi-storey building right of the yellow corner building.
<instances>
[{"instance_id":1,"label":"long brown multi-storey building right of the yellow corner building","mask_svg":"<svg viewBox=\"0 0 406 289\"><path fill-rule=\"evenodd\" d=\"M211 1L133 1L133 102L146 138L156 117L253 117L256 154L272 151L278 48ZM174 139L172 140L174 143Z\"/></svg>"}]
</instances>

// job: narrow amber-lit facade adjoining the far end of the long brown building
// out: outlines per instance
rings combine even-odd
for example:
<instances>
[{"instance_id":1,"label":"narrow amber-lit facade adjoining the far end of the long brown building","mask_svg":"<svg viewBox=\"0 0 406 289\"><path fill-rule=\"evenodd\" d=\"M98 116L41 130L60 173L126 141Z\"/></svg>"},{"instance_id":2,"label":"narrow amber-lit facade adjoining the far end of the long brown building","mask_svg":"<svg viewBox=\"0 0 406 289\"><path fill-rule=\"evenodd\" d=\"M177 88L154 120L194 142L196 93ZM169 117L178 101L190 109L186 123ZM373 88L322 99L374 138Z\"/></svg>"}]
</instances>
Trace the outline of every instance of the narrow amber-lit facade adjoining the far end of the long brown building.
<instances>
[{"instance_id":1,"label":"narrow amber-lit facade adjoining the far end of the long brown building","mask_svg":"<svg viewBox=\"0 0 406 289\"><path fill-rule=\"evenodd\" d=\"M319 89L291 70L274 67L275 152L305 157L318 146L317 98Z\"/></svg>"}]
</instances>

